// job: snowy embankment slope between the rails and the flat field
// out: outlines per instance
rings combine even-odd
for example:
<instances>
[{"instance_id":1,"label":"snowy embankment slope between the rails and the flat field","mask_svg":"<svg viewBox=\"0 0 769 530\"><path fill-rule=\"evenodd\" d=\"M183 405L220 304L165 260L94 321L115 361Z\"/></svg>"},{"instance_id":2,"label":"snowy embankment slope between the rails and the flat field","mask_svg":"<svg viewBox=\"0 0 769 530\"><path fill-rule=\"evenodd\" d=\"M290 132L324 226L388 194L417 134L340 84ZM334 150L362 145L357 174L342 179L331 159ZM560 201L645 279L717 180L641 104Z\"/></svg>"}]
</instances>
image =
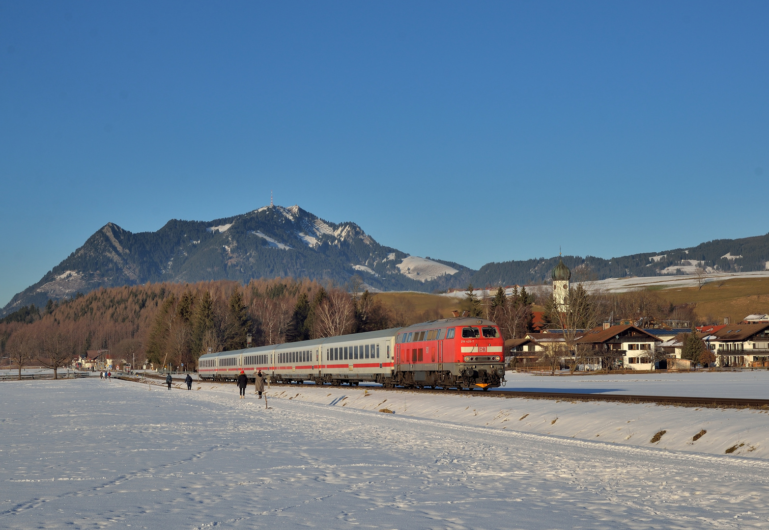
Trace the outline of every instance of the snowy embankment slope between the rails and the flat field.
<instances>
[{"instance_id":1,"label":"snowy embankment slope between the rails and the flat field","mask_svg":"<svg viewBox=\"0 0 769 530\"><path fill-rule=\"evenodd\" d=\"M146 383L145 383L146 384ZM155 386L157 383L154 383ZM187 392L175 383L175 391ZM231 383L196 382L193 391L231 396L233 406L263 407L253 386L245 402ZM620 446L769 459L769 409L682 407L651 402L508 399L488 393L431 393L365 386L271 385L270 406L281 402L438 420L485 429L605 442ZM380 412L380 411L386 412ZM418 429L418 427L414 427ZM482 438L482 436L481 436Z\"/></svg>"}]
</instances>

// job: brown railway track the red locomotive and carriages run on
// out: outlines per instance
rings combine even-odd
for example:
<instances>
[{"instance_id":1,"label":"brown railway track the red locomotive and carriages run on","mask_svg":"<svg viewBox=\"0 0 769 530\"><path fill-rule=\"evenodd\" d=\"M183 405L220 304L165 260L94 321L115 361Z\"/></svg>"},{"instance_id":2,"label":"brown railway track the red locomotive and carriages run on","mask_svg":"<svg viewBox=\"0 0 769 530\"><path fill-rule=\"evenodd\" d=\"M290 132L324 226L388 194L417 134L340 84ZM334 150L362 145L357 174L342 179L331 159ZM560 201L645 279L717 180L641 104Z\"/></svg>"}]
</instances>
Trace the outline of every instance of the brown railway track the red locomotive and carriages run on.
<instances>
[{"instance_id":1,"label":"brown railway track the red locomotive and carriages run on","mask_svg":"<svg viewBox=\"0 0 769 530\"><path fill-rule=\"evenodd\" d=\"M143 374L145 378L162 379L165 376L155 376ZM135 381L135 378L120 377ZM175 381L175 383L178 383ZM200 383L200 381L196 381ZM231 384L235 384L231 382ZM281 388L283 384L276 383L273 389ZM286 385L288 386L288 385ZM296 385L293 385L296 386ZM341 388L344 388L342 386ZM364 387L365 388L365 387ZM495 396L504 398L524 398L524 399L555 399L557 401L605 401L605 402L623 402L623 403L655 403L657 405L677 405L677 406L700 406L724 409L769 409L769 399L751 399L751 398L721 398L721 397L690 397L690 396L639 396L634 394L581 394L566 392L528 392L524 390L457 390L457 389L385 389L379 386L378 390L387 390L391 392L413 392L413 393L434 393L434 394L462 394L464 396Z\"/></svg>"}]
</instances>

